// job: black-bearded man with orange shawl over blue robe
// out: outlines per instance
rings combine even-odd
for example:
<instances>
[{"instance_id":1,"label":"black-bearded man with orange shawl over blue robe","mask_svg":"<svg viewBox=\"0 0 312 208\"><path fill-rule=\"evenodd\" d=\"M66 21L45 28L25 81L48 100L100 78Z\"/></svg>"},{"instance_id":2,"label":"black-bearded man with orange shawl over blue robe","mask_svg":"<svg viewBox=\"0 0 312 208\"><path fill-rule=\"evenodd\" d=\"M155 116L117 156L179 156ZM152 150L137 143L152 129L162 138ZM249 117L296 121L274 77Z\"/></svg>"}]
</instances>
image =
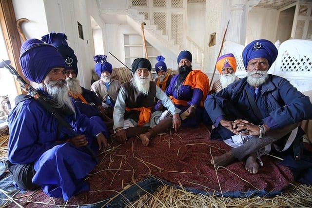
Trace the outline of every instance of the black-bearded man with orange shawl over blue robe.
<instances>
[{"instance_id":1,"label":"black-bearded man with orange shawl over blue robe","mask_svg":"<svg viewBox=\"0 0 312 208\"><path fill-rule=\"evenodd\" d=\"M177 57L178 74L175 75L165 93L181 110L182 126L198 126L202 122L203 103L209 92L209 79L200 70L192 69L192 54L181 51ZM156 109L163 110L157 103Z\"/></svg>"}]
</instances>

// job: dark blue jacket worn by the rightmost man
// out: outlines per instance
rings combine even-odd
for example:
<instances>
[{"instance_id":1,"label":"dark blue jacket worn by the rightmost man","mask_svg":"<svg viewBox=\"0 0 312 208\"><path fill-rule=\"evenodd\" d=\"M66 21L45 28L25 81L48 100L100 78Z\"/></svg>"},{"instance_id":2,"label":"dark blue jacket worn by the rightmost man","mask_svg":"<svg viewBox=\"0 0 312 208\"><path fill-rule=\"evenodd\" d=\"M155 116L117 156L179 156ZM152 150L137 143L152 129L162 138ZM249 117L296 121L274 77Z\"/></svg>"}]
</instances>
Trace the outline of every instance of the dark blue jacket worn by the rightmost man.
<instances>
[{"instance_id":1,"label":"dark blue jacket worn by the rightmost man","mask_svg":"<svg viewBox=\"0 0 312 208\"><path fill-rule=\"evenodd\" d=\"M230 120L231 115L226 114L227 111L236 111L241 115L232 119L245 119L255 125L264 123L272 129L312 119L312 104L309 97L282 77L269 74L267 82L259 87L255 103L262 114L262 121L255 116L248 101L247 91L254 96L254 90L245 77L207 97L205 108L215 126L219 125L221 119ZM223 107L229 106L227 102L234 109L223 110Z\"/></svg>"}]
</instances>

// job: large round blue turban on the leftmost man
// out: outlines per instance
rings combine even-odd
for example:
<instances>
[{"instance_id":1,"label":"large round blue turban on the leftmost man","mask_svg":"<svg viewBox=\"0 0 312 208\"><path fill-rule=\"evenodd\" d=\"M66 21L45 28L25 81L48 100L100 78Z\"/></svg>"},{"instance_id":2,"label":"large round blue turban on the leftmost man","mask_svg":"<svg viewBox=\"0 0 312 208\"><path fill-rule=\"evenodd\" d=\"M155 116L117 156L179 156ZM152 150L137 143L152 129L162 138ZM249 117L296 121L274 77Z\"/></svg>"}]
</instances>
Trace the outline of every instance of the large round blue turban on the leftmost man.
<instances>
[{"instance_id":1,"label":"large round blue turban on the leftmost man","mask_svg":"<svg viewBox=\"0 0 312 208\"><path fill-rule=\"evenodd\" d=\"M20 66L28 80L41 83L52 68L65 68L66 64L52 45L38 39L28 39L20 48Z\"/></svg>"}]
</instances>

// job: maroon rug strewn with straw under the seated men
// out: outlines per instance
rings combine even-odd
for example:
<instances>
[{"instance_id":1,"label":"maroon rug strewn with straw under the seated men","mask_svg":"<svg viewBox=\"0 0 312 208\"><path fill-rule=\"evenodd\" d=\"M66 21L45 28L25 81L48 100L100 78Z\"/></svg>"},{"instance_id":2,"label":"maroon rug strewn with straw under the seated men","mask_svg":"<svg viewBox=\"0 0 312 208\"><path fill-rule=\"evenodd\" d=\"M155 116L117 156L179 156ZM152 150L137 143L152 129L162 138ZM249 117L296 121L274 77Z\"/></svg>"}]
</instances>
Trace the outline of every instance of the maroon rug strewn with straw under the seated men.
<instances>
[{"instance_id":1,"label":"maroon rug strewn with straw under the seated men","mask_svg":"<svg viewBox=\"0 0 312 208\"><path fill-rule=\"evenodd\" d=\"M126 145L114 143L114 150L99 156L100 164L95 167L87 181L90 192L72 197L67 205L93 204L112 197L127 187L153 175L182 187L206 192L247 192L265 190L282 191L293 182L290 169L276 165L277 160L263 157L264 166L255 175L244 169L243 162L235 162L216 172L210 164L212 156L230 150L224 142L211 141L210 132L204 126L184 128L154 138L145 147L134 137ZM41 190L27 191L20 199L52 203ZM24 195L25 197L23 197ZM54 198L55 204L64 205L62 199ZM33 207L33 203L21 203Z\"/></svg>"}]
</instances>

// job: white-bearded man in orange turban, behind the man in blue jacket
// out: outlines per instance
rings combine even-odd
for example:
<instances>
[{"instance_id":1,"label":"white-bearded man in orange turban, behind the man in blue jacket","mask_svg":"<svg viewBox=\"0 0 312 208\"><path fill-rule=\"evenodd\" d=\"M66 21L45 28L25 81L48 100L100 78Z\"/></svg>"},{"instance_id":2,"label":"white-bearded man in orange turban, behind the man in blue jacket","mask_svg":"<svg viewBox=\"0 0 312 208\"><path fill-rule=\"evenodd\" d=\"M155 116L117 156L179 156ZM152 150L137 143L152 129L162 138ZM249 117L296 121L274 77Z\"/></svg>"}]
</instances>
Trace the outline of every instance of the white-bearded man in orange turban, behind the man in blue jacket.
<instances>
[{"instance_id":1,"label":"white-bearded man in orange turban, behind the man in blue jacket","mask_svg":"<svg viewBox=\"0 0 312 208\"><path fill-rule=\"evenodd\" d=\"M236 66L236 59L232 53L224 54L218 58L216 62L216 69L220 73L221 77L219 80L214 82L210 94L219 92L230 83L234 83L239 80L239 78L235 75Z\"/></svg>"}]
</instances>

